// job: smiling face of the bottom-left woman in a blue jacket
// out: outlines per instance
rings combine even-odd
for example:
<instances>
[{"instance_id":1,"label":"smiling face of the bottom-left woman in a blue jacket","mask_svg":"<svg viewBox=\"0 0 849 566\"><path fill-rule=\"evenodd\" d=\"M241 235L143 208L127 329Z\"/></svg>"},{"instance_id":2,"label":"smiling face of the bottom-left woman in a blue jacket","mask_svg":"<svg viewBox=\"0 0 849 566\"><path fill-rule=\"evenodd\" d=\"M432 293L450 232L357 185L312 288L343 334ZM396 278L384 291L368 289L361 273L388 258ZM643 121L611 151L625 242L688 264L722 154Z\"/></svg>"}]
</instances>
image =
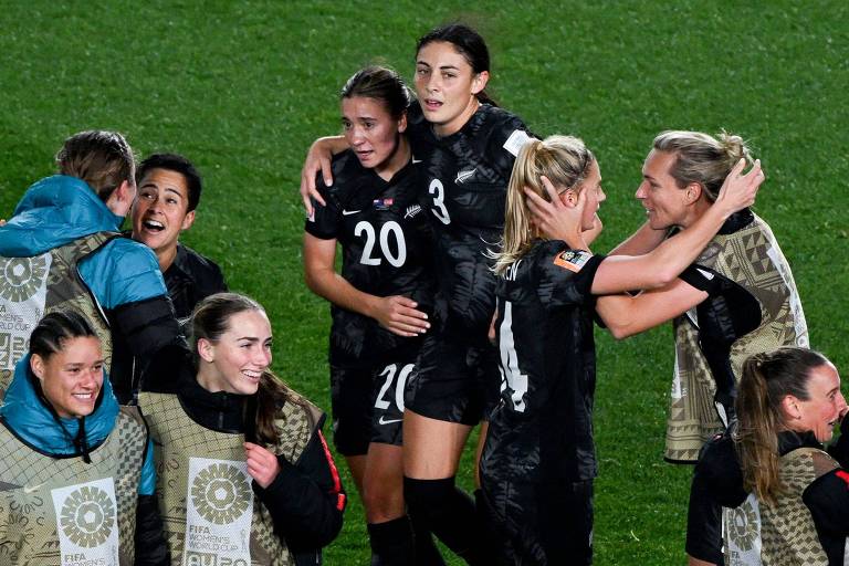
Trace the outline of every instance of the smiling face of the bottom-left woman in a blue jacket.
<instances>
[{"instance_id":1,"label":"smiling face of the bottom-left woman in a blue jacket","mask_svg":"<svg viewBox=\"0 0 849 566\"><path fill-rule=\"evenodd\" d=\"M42 358L33 354L30 367L56 415L85 417L94 411L103 387L101 340L80 336L62 340L62 349Z\"/></svg>"}]
</instances>

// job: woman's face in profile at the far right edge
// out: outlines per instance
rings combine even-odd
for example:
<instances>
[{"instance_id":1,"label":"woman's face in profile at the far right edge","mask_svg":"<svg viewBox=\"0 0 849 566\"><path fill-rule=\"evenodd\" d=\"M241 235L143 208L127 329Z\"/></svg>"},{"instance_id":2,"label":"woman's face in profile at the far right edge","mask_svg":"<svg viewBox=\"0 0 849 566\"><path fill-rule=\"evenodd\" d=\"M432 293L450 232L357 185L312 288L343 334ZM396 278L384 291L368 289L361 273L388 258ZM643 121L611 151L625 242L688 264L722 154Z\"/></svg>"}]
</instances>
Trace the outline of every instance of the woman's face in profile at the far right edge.
<instances>
[{"instance_id":1,"label":"woman's face in profile at the far right edge","mask_svg":"<svg viewBox=\"0 0 849 566\"><path fill-rule=\"evenodd\" d=\"M808 400L795 399L798 412L788 427L797 432L813 430L817 440L826 442L834 434L835 423L846 413L840 392L840 376L830 363L811 368L808 374Z\"/></svg>"}]
</instances>

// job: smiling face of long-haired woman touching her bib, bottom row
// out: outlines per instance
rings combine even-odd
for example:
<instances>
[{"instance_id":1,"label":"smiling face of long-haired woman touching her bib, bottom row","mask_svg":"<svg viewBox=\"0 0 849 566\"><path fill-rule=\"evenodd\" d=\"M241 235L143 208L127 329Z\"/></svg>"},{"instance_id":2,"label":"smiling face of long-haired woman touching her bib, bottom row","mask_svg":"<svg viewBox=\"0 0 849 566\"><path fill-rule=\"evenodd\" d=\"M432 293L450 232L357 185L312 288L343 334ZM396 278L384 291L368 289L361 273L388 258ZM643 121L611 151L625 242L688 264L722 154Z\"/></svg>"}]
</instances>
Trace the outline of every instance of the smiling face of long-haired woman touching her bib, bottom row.
<instances>
[{"instance_id":1,"label":"smiling face of long-haired woman touching her bib, bottom row","mask_svg":"<svg viewBox=\"0 0 849 566\"><path fill-rule=\"evenodd\" d=\"M271 324L262 311L242 311L230 317L218 342L198 340L198 354L207 361L198 382L211 391L253 395L262 373L271 365Z\"/></svg>"}]
</instances>

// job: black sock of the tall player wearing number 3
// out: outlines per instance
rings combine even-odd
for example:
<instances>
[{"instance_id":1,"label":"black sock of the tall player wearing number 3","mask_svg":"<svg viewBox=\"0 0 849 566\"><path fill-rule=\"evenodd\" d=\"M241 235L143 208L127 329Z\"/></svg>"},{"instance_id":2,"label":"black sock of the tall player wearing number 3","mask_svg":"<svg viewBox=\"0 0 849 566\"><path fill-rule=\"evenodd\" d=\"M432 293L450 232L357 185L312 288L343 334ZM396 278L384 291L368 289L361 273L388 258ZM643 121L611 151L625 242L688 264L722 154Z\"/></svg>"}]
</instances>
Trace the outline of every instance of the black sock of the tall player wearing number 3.
<instances>
[{"instance_id":1,"label":"black sock of the tall player wearing number 3","mask_svg":"<svg viewBox=\"0 0 849 566\"><path fill-rule=\"evenodd\" d=\"M491 566L474 501L454 486L454 478L403 478L407 509L458 556L472 566Z\"/></svg>"}]
</instances>

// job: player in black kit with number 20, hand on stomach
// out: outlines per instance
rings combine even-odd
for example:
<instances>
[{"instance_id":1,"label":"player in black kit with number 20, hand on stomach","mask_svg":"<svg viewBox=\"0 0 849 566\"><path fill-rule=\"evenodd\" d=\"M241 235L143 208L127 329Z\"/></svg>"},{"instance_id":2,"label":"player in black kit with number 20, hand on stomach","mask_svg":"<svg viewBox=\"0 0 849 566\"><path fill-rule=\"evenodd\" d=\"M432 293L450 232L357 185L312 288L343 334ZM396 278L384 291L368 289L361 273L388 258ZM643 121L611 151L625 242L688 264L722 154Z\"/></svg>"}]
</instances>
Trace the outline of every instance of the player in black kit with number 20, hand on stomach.
<instances>
[{"instance_id":1,"label":"player in black kit with number 20, hand on stomach","mask_svg":"<svg viewBox=\"0 0 849 566\"><path fill-rule=\"evenodd\" d=\"M306 283L333 303L334 442L363 495L374 566L441 563L427 532L417 533L413 552L403 504L403 391L434 292L431 230L418 203L422 167L411 163L405 135L410 97L388 69L347 81L342 123L350 149L333 160L333 186L317 180L326 206L304 227Z\"/></svg>"}]
</instances>

